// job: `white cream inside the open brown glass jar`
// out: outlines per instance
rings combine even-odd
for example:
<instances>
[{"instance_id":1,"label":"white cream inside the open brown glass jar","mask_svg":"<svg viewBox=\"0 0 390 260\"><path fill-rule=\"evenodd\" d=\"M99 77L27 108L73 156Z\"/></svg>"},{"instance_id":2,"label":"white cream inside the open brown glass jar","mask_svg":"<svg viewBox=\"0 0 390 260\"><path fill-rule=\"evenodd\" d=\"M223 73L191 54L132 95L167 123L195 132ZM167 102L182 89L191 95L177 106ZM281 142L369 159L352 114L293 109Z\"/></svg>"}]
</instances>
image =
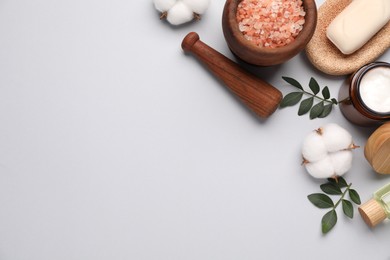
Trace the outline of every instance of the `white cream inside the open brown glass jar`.
<instances>
[{"instance_id":1,"label":"white cream inside the open brown glass jar","mask_svg":"<svg viewBox=\"0 0 390 260\"><path fill-rule=\"evenodd\" d=\"M360 80L360 97L367 108L377 113L390 113L390 68L376 67Z\"/></svg>"}]
</instances>

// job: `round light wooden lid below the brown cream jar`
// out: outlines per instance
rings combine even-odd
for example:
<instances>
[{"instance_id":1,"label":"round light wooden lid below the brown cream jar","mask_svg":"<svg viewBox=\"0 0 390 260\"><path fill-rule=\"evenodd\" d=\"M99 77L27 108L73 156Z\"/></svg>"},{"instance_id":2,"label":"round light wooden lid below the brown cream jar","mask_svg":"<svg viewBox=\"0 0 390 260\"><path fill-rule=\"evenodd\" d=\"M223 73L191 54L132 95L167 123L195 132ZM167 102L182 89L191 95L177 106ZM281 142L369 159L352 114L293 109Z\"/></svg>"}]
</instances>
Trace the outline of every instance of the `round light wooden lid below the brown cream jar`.
<instances>
[{"instance_id":1,"label":"round light wooden lid below the brown cream jar","mask_svg":"<svg viewBox=\"0 0 390 260\"><path fill-rule=\"evenodd\" d=\"M368 138L364 156L380 174L390 174L390 123L383 124Z\"/></svg>"}]
</instances>

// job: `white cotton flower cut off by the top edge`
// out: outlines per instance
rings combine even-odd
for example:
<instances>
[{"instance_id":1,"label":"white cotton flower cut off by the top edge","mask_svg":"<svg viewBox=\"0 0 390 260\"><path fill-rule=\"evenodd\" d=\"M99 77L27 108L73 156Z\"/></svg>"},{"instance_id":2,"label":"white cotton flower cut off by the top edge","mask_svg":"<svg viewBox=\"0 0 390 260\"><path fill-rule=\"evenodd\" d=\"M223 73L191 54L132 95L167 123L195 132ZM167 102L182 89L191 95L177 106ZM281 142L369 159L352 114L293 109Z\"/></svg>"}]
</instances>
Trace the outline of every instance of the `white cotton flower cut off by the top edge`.
<instances>
[{"instance_id":1,"label":"white cotton flower cut off by the top edge","mask_svg":"<svg viewBox=\"0 0 390 260\"><path fill-rule=\"evenodd\" d=\"M179 25L199 19L210 5L210 0L154 0L154 7L161 12L161 19Z\"/></svg>"}]
</instances>

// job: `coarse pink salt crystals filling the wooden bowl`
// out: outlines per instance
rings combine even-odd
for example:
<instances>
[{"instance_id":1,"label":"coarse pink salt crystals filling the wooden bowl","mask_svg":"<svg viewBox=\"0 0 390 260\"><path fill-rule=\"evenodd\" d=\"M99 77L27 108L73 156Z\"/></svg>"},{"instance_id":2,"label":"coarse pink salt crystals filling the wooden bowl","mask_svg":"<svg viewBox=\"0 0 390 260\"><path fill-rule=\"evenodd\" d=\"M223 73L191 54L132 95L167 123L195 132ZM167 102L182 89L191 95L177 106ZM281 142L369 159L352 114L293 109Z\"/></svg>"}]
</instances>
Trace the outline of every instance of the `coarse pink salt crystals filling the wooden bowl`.
<instances>
[{"instance_id":1,"label":"coarse pink salt crystals filling the wooden bowl","mask_svg":"<svg viewBox=\"0 0 390 260\"><path fill-rule=\"evenodd\" d=\"M239 30L260 47L285 46L305 23L302 0L243 0L237 7Z\"/></svg>"}]
</instances>

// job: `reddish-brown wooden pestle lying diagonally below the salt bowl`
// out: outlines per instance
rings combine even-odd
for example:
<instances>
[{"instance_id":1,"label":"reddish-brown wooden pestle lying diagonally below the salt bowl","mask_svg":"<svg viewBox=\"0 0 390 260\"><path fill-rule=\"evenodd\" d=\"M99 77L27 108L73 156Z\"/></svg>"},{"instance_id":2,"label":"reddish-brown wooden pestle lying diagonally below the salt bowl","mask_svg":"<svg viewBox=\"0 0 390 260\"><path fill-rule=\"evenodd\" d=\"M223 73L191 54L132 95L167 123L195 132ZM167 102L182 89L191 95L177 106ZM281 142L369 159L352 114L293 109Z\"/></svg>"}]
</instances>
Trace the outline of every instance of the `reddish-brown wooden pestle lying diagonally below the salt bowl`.
<instances>
[{"instance_id":1,"label":"reddish-brown wooden pestle lying diagonally below the salt bowl","mask_svg":"<svg viewBox=\"0 0 390 260\"><path fill-rule=\"evenodd\" d=\"M182 48L197 57L217 78L237 95L255 114L269 117L278 108L282 93L260 78L242 69L199 39L195 32L187 34Z\"/></svg>"}]
</instances>

